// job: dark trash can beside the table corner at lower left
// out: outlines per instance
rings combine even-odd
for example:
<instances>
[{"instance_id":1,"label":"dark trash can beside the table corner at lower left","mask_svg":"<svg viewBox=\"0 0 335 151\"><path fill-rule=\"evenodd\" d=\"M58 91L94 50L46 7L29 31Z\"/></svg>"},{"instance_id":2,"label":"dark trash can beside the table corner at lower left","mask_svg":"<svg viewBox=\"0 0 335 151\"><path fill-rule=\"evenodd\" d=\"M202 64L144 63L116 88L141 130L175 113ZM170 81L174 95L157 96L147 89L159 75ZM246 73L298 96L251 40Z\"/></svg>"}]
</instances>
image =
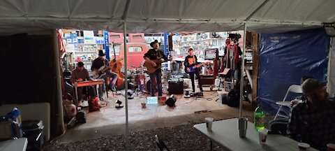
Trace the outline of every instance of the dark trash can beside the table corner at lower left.
<instances>
[{"instance_id":1,"label":"dark trash can beside the table corner at lower left","mask_svg":"<svg viewBox=\"0 0 335 151\"><path fill-rule=\"evenodd\" d=\"M24 137L28 140L27 150L40 150L44 144L43 122L41 120L22 121Z\"/></svg>"}]
</instances>

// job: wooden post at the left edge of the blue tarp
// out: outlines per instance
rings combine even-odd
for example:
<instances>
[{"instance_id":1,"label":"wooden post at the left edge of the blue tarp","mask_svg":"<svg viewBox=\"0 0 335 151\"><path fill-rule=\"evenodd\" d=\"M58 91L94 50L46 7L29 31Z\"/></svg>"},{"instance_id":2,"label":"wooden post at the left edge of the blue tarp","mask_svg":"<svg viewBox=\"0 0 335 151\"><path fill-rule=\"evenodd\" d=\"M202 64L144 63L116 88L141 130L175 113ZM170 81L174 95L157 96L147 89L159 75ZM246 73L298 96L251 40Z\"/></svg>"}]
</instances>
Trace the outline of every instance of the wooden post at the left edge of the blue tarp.
<instances>
[{"instance_id":1,"label":"wooden post at the left edge of the blue tarp","mask_svg":"<svg viewBox=\"0 0 335 151\"><path fill-rule=\"evenodd\" d=\"M258 50L258 34L253 33L253 73L252 73L252 79L253 79L253 101L252 103L257 103L257 83L258 83L258 57L259 57L259 50Z\"/></svg>"}]
</instances>

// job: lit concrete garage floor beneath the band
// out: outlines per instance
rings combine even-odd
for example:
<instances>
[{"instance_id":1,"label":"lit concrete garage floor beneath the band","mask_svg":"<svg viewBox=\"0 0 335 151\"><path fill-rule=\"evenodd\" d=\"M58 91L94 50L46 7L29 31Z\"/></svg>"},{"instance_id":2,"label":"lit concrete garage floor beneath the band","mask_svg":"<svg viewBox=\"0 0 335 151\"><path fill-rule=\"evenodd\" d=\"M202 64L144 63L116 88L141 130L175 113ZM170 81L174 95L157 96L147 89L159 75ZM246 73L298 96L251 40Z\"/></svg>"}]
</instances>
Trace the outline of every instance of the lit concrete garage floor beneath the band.
<instances>
[{"instance_id":1,"label":"lit concrete garage floor beneath the band","mask_svg":"<svg viewBox=\"0 0 335 151\"><path fill-rule=\"evenodd\" d=\"M214 89L215 90L215 89ZM232 108L216 101L216 91L204 88L202 98L185 99L183 95L176 95L176 107L170 108L160 104L147 105L142 108L141 103L146 100L147 95L136 96L128 99L128 128L129 131L142 131L161 127L173 127L180 124L204 122L204 117L214 117L214 120L222 120L239 116L239 108ZM70 143L103 136L124 134L126 129L126 107L115 108L115 101L119 99L125 106L124 96L112 96L109 94L107 106L100 111L87 112L87 123L76 124L75 127L67 129L66 133L55 139L59 143ZM244 101L243 115L253 114L251 103Z\"/></svg>"}]
</instances>

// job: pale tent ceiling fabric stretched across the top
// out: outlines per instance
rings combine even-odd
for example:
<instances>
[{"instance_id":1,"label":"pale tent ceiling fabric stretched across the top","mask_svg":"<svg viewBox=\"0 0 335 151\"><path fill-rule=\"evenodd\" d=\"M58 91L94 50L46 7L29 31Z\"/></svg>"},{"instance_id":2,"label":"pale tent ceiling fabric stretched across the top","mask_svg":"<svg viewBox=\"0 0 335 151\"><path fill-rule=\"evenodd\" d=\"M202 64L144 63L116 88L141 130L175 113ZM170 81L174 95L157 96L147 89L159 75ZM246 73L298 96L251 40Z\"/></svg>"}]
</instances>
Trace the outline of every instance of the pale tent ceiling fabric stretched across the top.
<instances>
[{"instance_id":1,"label":"pale tent ceiling fabric stretched across the top","mask_svg":"<svg viewBox=\"0 0 335 151\"><path fill-rule=\"evenodd\" d=\"M2 0L0 35L40 29L88 29L128 33L179 31L283 32L335 22L332 0Z\"/></svg>"}]
</instances>

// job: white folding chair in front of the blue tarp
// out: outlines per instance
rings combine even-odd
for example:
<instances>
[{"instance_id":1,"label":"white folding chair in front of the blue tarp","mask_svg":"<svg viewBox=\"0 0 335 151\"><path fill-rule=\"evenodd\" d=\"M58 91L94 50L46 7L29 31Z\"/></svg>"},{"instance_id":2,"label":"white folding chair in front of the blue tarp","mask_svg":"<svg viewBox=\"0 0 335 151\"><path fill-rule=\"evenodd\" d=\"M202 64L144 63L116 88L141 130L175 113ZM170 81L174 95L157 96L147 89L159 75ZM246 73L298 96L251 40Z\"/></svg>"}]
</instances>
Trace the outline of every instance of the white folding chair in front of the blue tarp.
<instances>
[{"instance_id":1,"label":"white folding chair in front of the blue tarp","mask_svg":"<svg viewBox=\"0 0 335 151\"><path fill-rule=\"evenodd\" d=\"M278 111L277 111L277 113L276 113L276 116L274 116L274 120L276 120L276 118L277 118L278 116L288 118L288 116L286 116L286 115L281 115L280 112L281 112L281 108L282 108L283 106L288 106L289 108L291 107L291 106L290 106L290 101L286 101L286 97L288 96L288 93L289 93L289 92L297 93L297 94L302 94L300 85L291 85L290 87L288 87L288 92L286 92L283 101L278 101L278 102L276 102L276 104L279 105L279 109L278 109Z\"/></svg>"}]
</instances>

